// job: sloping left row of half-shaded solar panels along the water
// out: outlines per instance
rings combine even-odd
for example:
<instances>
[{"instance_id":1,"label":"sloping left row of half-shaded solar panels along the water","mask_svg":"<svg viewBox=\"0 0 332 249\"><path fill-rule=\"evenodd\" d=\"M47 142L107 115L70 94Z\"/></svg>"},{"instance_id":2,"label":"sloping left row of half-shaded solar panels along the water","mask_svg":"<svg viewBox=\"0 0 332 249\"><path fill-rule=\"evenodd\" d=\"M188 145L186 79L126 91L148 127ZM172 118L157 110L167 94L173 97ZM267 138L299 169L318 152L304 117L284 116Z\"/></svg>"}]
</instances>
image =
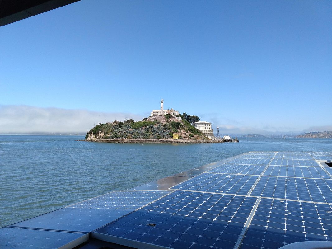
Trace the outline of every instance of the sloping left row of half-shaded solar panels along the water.
<instances>
[{"instance_id":1,"label":"sloping left row of half-shaded solar panels along the water","mask_svg":"<svg viewBox=\"0 0 332 249\"><path fill-rule=\"evenodd\" d=\"M1 228L0 248L56 249L68 243L75 247L89 239L89 232L168 193L116 191L60 208Z\"/></svg>"}]
</instances>

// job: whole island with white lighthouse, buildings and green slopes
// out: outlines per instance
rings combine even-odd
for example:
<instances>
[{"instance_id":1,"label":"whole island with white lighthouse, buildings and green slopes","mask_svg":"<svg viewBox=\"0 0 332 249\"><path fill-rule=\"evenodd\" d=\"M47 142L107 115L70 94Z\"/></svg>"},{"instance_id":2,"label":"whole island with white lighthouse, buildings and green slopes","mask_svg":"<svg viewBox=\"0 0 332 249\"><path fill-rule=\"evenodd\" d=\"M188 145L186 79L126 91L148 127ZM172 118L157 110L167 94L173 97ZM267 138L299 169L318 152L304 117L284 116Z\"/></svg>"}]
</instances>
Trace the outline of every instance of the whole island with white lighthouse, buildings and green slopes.
<instances>
[{"instance_id":1,"label":"whole island with white lighthouse, buildings and green slopes","mask_svg":"<svg viewBox=\"0 0 332 249\"><path fill-rule=\"evenodd\" d=\"M150 117L135 122L133 119L99 123L85 136L83 141L113 143L220 143L224 139L215 137L211 123L200 121L197 116L179 114L172 109L152 110Z\"/></svg>"}]
</instances>

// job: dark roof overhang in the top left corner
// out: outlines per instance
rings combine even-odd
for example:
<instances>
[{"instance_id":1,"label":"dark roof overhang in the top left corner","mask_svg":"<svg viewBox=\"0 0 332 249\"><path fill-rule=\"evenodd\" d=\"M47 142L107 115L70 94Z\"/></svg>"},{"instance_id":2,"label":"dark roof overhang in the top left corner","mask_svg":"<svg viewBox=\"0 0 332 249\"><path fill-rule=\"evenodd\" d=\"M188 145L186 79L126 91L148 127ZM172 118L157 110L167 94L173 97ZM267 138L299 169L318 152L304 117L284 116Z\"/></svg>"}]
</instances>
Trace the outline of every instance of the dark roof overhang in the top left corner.
<instances>
[{"instance_id":1,"label":"dark roof overhang in the top left corner","mask_svg":"<svg viewBox=\"0 0 332 249\"><path fill-rule=\"evenodd\" d=\"M0 26L78 1L80 0L0 0Z\"/></svg>"}]
</instances>

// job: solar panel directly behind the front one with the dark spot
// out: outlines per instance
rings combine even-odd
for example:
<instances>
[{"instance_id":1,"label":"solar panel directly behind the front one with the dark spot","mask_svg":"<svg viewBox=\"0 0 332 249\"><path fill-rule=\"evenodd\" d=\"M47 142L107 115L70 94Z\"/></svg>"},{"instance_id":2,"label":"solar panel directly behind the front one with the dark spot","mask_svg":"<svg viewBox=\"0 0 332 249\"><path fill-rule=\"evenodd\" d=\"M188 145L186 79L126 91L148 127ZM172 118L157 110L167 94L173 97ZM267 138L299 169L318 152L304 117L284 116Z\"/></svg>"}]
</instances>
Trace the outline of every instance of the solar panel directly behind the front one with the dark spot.
<instances>
[{"instance_id":1,"label":"solar panel directly behind the front one with the dark spot","mask_svg":"<svg viewBox=\"0 0 332 249\"><path fill-rule=\"evenodd\" d=\"M247 195L258 176L203 173L170 189Z\"/></svg>"}]
</instances>

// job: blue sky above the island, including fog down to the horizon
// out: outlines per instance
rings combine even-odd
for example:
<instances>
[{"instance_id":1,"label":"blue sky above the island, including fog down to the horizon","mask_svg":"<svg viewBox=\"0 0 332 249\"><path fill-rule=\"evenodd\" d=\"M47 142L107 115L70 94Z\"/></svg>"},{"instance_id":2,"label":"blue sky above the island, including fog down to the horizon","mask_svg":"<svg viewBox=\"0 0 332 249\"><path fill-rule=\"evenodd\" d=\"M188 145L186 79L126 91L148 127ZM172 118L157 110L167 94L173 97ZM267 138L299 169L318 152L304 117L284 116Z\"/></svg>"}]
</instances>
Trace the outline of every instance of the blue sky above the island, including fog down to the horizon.
<instances>
[{"instance_id":1,"label":"blue sky above the island, including fog down to the horizon","mask_svg":"<svg viewBox=\"0 0 332 249\"><path fill-rule=\"evenodd\" d=\"M331 23L331 1L82 0L24 19L0 28L0 133L86 132L161 99L222 133L332 130Z\"/></svg>"}]
</instances>

